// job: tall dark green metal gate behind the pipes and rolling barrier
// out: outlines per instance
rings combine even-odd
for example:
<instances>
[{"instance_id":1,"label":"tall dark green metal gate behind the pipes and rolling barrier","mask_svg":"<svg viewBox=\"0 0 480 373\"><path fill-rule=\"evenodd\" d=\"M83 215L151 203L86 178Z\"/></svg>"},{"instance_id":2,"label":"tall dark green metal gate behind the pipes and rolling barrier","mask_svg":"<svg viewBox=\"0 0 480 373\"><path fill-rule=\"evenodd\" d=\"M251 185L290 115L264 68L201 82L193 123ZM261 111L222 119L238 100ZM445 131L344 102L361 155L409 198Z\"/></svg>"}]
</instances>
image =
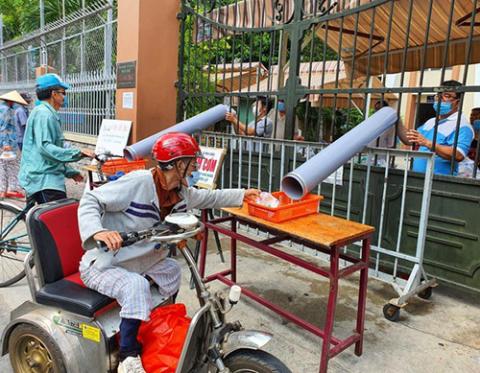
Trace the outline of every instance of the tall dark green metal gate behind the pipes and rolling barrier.
<instances>
[{"instance_id":1,"label":"tall dark green metal gate behind the pipes and rolling barrier","mask_svg":"<svg viewBox=\"0 0 480 373\"><path fill-rule=\"evenodd\" d=\"M437 94L454 91L459 96L457 149L462 115L480 106L479 4L477 0L183 0L178 119L225 103L240 120L255 123L257 113L251 112L251 103L258 96L274 103L274 139L237 136L233 140L227 122L217 123L207 136L211 144L229 149L222 187L277 189L286 172L368 117L376 102L387 101L406 125L416 128L432 117ZM461 85L443 85L450 79ZM277 105L282 100L285 118ZM437 131L439 117L435 113L433 117ZM299 129L304 142L298 142ZM398 148L396 135L395 131L372 146ZM263 151L243 147L249 141ZM471 164L479 161L478 147L477 143ZM378 184L367 191L371 204L365 222L378 230L380 211L386 209L381 227L385 237L379 246L394 249L392 237L400 226L402 246L413 251L418 209L407 205L401 221L388 217L398 210L396 188L406 183L414 201L424 175L410 173L403 180L403 171L395 170L403 167L401 159L391 156L385 164L384 153L371 151L373 171L368 177ZM362 180L367 175L365 154L359 154L355 163L359 165L355 178ZM390 207L382 200L385 167L391 168L387 203L390 192L395 203ZM361 182L353 183L350 190L345 187L348 173L347 167L343 187L322 183L317 191L326 194L325 212L361 220L361 208L355 206L358 199L352 201L351 195L363 196L365 191ZM473 167L464 177L434 177L425 264L428 273L446 283L479 292L476 173Z\"/></svg>"}]
</instances>

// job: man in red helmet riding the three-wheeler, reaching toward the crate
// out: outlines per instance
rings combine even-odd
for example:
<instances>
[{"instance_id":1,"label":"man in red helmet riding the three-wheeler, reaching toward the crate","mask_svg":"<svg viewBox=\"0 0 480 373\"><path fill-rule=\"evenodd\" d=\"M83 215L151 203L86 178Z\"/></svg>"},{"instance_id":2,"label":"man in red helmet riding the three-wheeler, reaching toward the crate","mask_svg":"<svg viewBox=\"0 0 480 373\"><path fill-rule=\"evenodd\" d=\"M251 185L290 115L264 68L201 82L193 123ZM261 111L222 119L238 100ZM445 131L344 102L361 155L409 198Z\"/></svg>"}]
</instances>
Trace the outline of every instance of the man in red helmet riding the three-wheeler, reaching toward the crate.
<instances>
[{"instance_id":1,"label":"man in red helmet riding the three-wheeler, reaching toward the crate","mask_svg":"<svg viewBox=\"0 0 480 373\"><path fill-rule=\"evenodd\" d=\"M86 253L80 263L85 285L115 298L120 310L119 373L142 373L141 346L137 341L142 320L152 309L149 279L160 294L175 298L180 288L180 266L167 258L158 244L139 242L120 250L119 232L148 229L172 212L241 206L257 197L256 189L200 190L188 187L186 178L201 156L195 139L184 133L162 135L153 147L158 165L130 172L120 179L85 193L78 220ZM98 248L97 241L108 247Z\"/></svg>"}]
</instances>

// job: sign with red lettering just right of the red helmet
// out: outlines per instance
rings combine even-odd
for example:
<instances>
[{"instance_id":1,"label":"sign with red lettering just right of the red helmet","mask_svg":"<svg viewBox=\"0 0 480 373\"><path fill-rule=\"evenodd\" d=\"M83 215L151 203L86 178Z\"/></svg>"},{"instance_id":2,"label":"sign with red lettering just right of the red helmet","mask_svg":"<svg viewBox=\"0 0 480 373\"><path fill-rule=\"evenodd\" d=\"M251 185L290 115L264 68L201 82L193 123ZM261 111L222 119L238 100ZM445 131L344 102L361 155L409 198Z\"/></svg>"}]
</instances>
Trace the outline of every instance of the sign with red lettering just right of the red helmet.
<instances>
[{"instance_id":1,"label":"sign with red lettering just right of the red helmet","mask_svg":"<svg viewBox=\"0 0 480 373\"><path fill-rule=\"evenodd\" d=\"M222 168L223 159L227 151L223 148L209 148L206 146L201 146L200 149L205 158L197 158L200 177L195 185L199 188L215 189L217 187L218 174Z\"/></svg>"}]
</instances>

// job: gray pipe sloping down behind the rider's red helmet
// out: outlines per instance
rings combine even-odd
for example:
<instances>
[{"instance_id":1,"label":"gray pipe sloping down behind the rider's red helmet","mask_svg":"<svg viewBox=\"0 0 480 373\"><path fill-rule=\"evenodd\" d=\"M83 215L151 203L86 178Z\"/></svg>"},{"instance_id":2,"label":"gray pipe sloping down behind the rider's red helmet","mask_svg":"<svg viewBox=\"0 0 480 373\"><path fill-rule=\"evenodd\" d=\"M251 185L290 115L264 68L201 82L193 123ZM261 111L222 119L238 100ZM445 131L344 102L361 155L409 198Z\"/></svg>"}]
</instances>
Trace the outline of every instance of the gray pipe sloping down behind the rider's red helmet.
<instances>
[{"instance_id":1,"label":"gray pipe sloping down behind the rider's red helmet","mask_svg":"<svg viewBox=\"0 0 480 373\"><path fill-rule=\"evenodd\" d=\"M147 137L146 139L143 139L136 144L127 146L123 150L123 154L125 155L125 158L130 161L146 157L150 155L150 153L152 152L153 144L155 144L155 141L161 135L169 132L185 132L192 134L204 130L205 128L210 127L211 125L224 119L225 114L229 110L229 107L226 105L214 106L213 108L208 109L203 113L195 115L194 117L184 120L183 122L180 122L172 127L164 129L163 131Z\"/></svg>"}]
</instances>

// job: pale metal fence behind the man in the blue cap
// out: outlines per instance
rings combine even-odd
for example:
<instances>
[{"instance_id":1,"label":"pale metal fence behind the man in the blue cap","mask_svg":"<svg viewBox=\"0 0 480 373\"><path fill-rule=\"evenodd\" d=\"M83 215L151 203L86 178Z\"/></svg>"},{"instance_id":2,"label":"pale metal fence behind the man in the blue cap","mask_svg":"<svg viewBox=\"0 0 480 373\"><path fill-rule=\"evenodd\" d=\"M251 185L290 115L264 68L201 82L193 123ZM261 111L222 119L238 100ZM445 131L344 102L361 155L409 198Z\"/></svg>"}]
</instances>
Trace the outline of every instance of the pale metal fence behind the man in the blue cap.
<instances>
[{"instance_id":1,"label":"pale metal fence behind the man in the blue cap","mask_svg":"<svg viewBox=\"0 0 480 373\"><path fill-rule=\"evenodd\" d=\"M36 69L48 66L71 84L62 109L68 132L97 135L115 115L116 11L99 0L0 47L0 92L16 89L35 97Z\"/></svg>"}]
</instances>

